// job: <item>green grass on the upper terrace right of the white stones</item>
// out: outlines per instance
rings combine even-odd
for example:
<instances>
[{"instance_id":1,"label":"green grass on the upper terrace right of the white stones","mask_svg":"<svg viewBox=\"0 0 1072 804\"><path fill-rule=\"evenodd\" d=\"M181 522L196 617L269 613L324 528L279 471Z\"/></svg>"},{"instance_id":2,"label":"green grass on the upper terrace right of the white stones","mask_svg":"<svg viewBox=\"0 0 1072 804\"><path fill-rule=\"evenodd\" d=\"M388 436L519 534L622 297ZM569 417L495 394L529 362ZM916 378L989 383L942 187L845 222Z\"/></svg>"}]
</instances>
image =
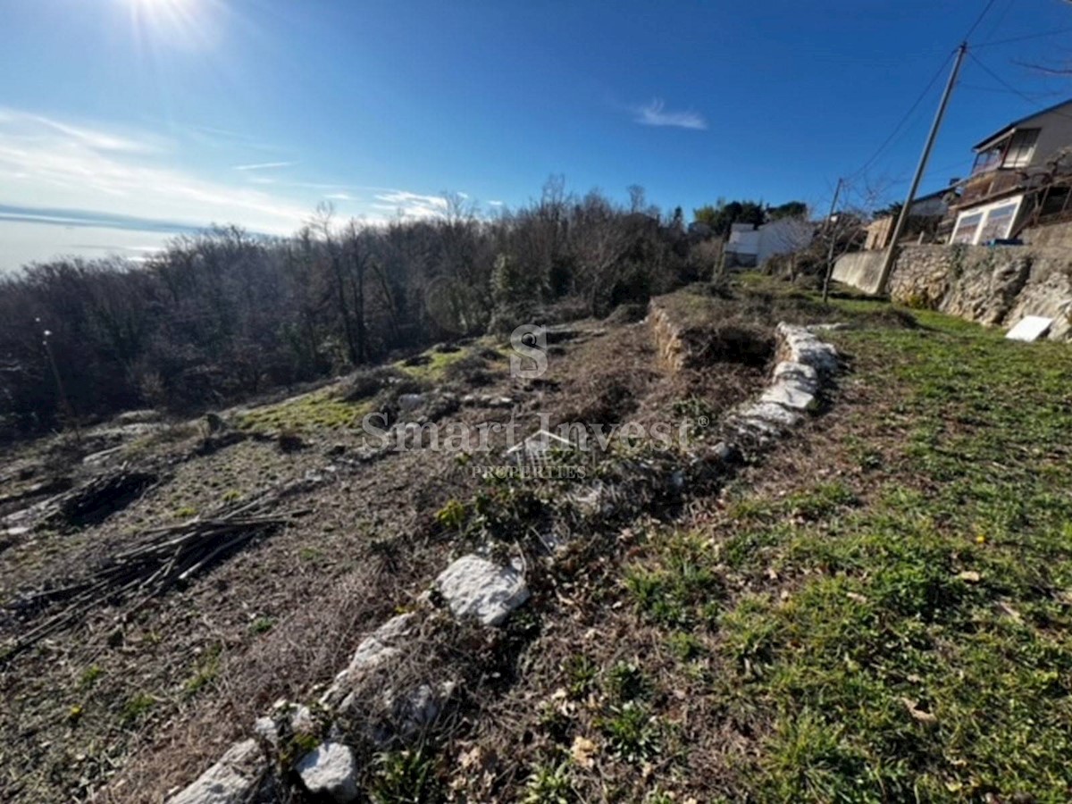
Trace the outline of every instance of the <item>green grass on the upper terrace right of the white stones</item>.
<instances>
[{"instance_id":1,"label":"green grass on the upper terrace right of the white stones","mask_svg":"<svg viewBox=\"0 0 1072 804\"><path fill-rule=\"evenodd\" d=\"M1070 801L1072 347L834 303L862 401L776 494L652 536L624 570L638 620L712 657L703 694L749 725L729 798ZM646 705L605 720L623 757Z\"/></svg>"}]
</instances>

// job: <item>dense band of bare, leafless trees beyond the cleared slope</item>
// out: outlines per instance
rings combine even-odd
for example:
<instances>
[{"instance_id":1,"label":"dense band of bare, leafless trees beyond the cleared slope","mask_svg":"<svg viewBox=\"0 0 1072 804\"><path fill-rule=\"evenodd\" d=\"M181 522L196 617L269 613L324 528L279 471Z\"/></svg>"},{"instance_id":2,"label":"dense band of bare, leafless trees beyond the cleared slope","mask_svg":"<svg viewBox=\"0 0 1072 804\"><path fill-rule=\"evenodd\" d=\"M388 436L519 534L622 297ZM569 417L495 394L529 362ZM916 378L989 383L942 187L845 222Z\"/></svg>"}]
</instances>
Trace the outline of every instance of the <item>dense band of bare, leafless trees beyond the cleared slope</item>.
<instances>
[{"instance_id":1,"label":"dense band of bare, leafless trees beyond the cleared slope","mask_svg":"<svg viewBox=\"0 0 1072 804\"><path fill-rule=\"evenodd\" d=\"M218 228L139 267L31 265L0 280L0 435L206 410L437 341L604 316L710 272L690 257L702 241L639 189L620 207L552 179L494 220L461 198L440 219L386 226L325 208L291 238Z\"/></svg>"}]
</instances>

